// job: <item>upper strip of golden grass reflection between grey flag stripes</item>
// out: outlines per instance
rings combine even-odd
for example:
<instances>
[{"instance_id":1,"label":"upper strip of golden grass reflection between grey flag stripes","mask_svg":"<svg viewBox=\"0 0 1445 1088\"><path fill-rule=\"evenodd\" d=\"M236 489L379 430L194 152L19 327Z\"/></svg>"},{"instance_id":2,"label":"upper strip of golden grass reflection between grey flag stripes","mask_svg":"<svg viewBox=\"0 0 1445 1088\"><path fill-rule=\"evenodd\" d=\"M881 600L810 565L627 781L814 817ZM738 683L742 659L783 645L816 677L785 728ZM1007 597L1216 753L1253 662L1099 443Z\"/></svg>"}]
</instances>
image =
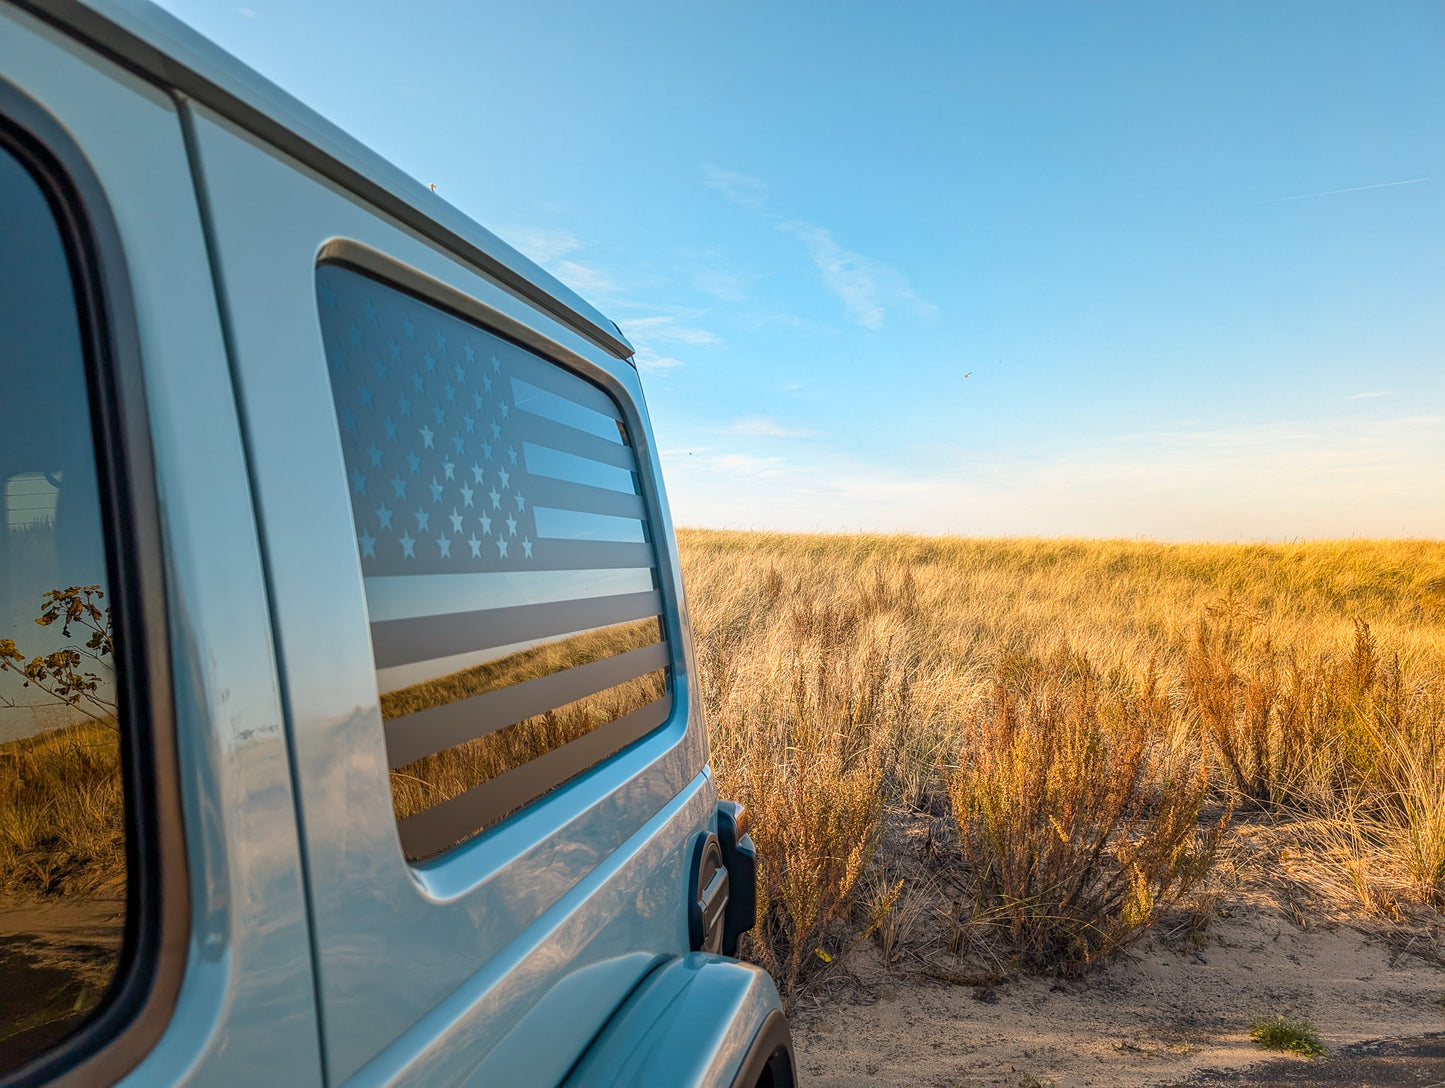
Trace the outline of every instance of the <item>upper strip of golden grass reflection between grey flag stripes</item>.
<instances>
[{"instance_id":1,"label":"upper strip of golden grass reflection between grey flag stripes","mask_svg":"<svg viewBox=\"0 0 1445 1088\"><path fill-rule=\"evenodd\" d=\"M399 718L403 714L445 707L448 702L467 699L473 695L510 688L603 657L614 657L640 646L652 646L659 640L656 620L636 620L577 634L571 639L559 639L543 646L533 646L530 650L499 657L494 662L438 676L434 681L422 681L409 688L386 692L381 696L381 717Z\"/></svg>"}]
</instances>

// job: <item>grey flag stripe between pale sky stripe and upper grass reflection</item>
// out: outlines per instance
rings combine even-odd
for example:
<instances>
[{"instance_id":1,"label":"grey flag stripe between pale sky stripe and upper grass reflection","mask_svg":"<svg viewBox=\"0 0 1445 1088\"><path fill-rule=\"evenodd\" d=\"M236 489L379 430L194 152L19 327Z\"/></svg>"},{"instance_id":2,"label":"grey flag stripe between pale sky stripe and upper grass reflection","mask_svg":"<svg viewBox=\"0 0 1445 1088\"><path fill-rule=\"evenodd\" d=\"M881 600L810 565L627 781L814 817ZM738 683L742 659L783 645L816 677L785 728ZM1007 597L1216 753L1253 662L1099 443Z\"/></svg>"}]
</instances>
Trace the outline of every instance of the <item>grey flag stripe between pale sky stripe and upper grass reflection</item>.
<instances>
[{"instance_id":1,"label":"grey flag stripe between pale sky stripe and upper grass reflection","mask_svg":"<svg viewBox=\"0 0 1445 1088\"><path fill-rule=\"evenodd\" d=\"M630 546L647 548L647 545ZM610 627L629 620L646 620L660 613L662 594L650 590L578 601L423 616L413 620L381 620L371 624L371 653L376 668L389 669L394 665L452 657L527 639L546 639L592 627Z\"/></svg>"}]
</instances>

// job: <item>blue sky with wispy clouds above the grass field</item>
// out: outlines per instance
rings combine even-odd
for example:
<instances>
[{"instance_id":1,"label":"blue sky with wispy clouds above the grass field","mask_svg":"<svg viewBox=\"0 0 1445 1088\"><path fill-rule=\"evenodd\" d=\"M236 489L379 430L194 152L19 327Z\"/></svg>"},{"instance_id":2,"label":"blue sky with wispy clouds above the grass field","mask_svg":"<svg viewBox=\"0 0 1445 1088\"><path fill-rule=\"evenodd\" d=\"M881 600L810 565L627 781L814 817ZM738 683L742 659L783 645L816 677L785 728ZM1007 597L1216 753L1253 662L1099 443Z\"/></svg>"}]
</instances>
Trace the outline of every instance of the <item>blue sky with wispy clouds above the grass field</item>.
<instances>
[{"instance_id":1,"label":"blue sky with wispy clouds above the grass field","mask_svg":"<svg viewBox=\"0 0 1445 1088\"><path fill-rule=\"evenodd\" d=\"M1438 3L166 7L618 321L681 524L1445 536Z\"/></svg>"}]
</instances>

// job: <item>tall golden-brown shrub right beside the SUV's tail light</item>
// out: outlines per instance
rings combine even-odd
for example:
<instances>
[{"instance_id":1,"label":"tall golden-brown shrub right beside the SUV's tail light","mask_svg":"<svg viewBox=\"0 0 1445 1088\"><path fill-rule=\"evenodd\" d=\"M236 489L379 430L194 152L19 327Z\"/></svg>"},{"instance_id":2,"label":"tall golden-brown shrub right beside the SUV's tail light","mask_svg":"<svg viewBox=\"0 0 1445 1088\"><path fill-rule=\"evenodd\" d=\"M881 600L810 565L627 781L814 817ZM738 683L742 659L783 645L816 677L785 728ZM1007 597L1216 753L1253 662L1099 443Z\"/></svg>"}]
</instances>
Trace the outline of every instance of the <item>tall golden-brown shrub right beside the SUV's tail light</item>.
<instances>
[{"instance_id":1,"label":"tall golden-brown shrub right beside the SUV's tail light","mask_svg":"<svg viewBox=\"0 0 1445 1088\"><path fill-rule=\"evenodd\" d=\"M712 761L722 793L753 813L760 871L750 952L792 998L824 962L816 951L845 916L877 847L910 669L889 620L866 620L855 601L798 588L783 600L779 588L772 604L744 660L731 649L736 636L704 636L699 650L734 670L725 675L747 678L704 688Z\"/></svg>"}]
</instances>

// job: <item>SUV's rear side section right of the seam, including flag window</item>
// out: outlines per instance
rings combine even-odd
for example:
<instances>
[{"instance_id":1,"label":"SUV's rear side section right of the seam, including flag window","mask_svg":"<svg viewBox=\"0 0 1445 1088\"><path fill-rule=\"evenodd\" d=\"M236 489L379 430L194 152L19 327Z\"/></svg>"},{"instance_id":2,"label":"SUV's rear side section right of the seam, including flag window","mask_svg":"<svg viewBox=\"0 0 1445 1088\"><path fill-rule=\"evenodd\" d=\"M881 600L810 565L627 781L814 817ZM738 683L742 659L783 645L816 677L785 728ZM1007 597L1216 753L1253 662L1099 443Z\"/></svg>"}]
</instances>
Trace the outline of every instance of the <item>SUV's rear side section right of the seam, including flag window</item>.
<instances>
[{"instance_id":1,"label":"SUV's rear side section right of the seam, including flag window","mask_svg":"<svg viewBox=\"0 0 1445 1088\"><path fill-rule=\"evenodd\" d=\"M191 124L328 1079L556 1082L688 951L715 805L636 370L452 256L416 212L455 212L319 120L324 150Z\"/></svg>"}]
</instances>

